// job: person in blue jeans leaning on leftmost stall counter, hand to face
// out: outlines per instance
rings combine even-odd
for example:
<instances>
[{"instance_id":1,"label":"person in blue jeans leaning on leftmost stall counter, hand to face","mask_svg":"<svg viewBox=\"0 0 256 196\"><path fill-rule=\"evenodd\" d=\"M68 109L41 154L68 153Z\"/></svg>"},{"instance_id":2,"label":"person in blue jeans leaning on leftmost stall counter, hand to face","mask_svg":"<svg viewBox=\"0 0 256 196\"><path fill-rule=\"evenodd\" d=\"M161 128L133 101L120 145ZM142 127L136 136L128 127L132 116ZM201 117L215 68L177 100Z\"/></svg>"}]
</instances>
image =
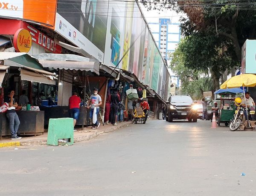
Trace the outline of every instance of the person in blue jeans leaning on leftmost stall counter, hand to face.
<instances>
[{"instance_id":1,"label":"person in blue jeans leaning on leftmost stall counter, hand to face","mask_svg":"<svg viewBox=\"0 0 256 196\"><path fill-rule=\"evenodd\" d=\"M10 101L9 106L7 108L6 117L9 120L10 123L10 132L12 139L20 139L21 137L17 136L18 128L20 125L20 119L18 115L16 114L15 109L18 107L17 102L15 102L13 96L15 95L15 91L11 91L10 95Z\"/></svg>"}]
</instances>

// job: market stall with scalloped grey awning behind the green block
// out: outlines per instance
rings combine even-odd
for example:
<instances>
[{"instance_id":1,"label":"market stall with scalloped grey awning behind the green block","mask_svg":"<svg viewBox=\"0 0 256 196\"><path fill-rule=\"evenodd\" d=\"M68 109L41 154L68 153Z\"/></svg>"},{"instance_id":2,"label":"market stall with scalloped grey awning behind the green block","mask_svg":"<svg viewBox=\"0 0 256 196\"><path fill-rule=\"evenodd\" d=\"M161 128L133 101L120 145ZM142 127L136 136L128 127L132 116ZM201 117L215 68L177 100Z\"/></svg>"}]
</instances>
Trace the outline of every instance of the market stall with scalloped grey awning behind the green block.
<instances>
[{"instance_id":1,"label":"market stall with scalloped grey awning behind the green block","mask_svg":"<svg viewBox=\"0 0 256 196\"><path fill-rule=\"evenodd\" d=\"M34 55L44 68L58 73L58 104L56 106L40 106L45 111L44 125L47 127L49 118L69 117L69 97L76 92L81 98L79 119L76 125L90 125L87 101L98 88L105 108L105 97L108 79L119 80L120 74L100 62L73 54L39 54ZM113 71L113 72L112 72ZM104 116L103 111L101 112Z\"/></svg>"}]
</instances>

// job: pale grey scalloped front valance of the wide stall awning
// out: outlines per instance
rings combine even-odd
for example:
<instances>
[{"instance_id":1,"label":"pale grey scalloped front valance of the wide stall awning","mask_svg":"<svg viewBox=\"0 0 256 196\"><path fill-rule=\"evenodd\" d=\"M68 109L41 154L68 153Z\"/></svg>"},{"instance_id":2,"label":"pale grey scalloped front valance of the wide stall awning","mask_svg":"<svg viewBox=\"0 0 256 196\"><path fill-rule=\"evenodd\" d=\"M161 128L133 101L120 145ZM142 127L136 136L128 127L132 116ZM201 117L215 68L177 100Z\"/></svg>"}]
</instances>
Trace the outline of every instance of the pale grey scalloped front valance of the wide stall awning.
<instances>
[{"instance_id":1,"label":"pale grey scalloped front valance of the wide stall awning","mask_svg":"<svg viewBox=\"0 0 256 196\"><path fill-rule=\"evenodd\" d=\"M44 68L91 71L99 75L99 62L40 60Z\"/></svg>"}]
</instances>

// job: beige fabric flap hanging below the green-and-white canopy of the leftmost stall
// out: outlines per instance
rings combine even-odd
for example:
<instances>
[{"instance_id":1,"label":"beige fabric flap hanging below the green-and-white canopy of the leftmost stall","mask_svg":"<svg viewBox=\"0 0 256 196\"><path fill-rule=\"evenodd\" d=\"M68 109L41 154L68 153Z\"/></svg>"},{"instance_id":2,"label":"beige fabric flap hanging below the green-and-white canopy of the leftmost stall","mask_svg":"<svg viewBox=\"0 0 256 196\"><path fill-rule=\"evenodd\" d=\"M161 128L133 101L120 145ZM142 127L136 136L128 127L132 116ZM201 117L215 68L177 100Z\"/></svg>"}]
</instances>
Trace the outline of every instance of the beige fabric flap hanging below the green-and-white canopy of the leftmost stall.
<instances>
[{"instance_id":1,"label":"beige fabric flap hanging below the green-and-white canopy of the leftmost stall","mask_svg":"<svg viewBox=\"0 0 256 196\"><path fill-rule=\"evenodd\" d=\"M33 71L28 71L25 69L20 70L20 80L26 80L30 82L39 82L49 85L56 85L56 81L53 80L52 75L39 74Z\"/></svg>"}]
</instances>

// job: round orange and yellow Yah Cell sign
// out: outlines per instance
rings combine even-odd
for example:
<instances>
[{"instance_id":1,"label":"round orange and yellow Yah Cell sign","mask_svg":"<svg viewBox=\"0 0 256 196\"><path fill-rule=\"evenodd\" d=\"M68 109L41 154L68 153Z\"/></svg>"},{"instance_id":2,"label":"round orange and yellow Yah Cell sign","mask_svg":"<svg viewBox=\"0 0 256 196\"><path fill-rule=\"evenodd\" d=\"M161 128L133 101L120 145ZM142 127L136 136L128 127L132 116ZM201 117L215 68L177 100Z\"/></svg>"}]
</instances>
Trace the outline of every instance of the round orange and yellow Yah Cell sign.
<instances>
[{"instance_id":1,"label":"round orange and yellow Yah Cell sign","mask_svg":"<svg viewBox=\"0 0 256 196\"><path fill-rule=\"evenodd\" d=\"M16 51L29 52L32 46L32 39L29 31L24 28L18 29L14 34L13 43Z\"/></svg>"}]
</instances>

